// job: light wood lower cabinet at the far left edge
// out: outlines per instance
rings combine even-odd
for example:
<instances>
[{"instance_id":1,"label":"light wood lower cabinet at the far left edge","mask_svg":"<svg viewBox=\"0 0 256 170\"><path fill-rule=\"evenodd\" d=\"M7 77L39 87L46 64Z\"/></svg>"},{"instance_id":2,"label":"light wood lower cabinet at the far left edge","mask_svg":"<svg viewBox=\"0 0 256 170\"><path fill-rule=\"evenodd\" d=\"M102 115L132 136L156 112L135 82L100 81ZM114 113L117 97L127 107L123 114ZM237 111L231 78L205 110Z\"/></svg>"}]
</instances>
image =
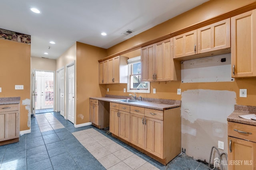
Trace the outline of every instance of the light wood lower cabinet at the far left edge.
<instances>
[{"instance_id":1,"label":"light wood lower cabinet at the far left edge","mask_svg":"<svg viewBox=\"0 0 256 170\"><path fill-rule=\"evenodd\" d=\"M19 104L0 105L0 146L19 141Z\"/></svg>"}]
</instances>

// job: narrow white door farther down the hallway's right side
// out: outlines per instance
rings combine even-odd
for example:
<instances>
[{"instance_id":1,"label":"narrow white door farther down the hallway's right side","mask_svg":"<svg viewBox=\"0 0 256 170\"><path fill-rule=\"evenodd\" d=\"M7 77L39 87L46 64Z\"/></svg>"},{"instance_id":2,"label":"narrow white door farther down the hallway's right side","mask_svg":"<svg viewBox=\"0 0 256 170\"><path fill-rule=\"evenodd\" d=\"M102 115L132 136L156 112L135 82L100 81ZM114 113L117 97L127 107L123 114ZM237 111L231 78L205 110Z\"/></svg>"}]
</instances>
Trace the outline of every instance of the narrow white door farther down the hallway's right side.
<instances>
[{"instance_id":1,"label":"narrow white door farther down the hallway's right side","mask_svg":"<svg viewBox=\"0 0 256 170\"><path fill-rule=\"evenodd\" d=\"M64 109L65 109L65 100L64 100L64 94L65 94L65 86L64 86L64 69L59 71L60 75L60 115L64 116Z\"/></svg>"}]
</instances>

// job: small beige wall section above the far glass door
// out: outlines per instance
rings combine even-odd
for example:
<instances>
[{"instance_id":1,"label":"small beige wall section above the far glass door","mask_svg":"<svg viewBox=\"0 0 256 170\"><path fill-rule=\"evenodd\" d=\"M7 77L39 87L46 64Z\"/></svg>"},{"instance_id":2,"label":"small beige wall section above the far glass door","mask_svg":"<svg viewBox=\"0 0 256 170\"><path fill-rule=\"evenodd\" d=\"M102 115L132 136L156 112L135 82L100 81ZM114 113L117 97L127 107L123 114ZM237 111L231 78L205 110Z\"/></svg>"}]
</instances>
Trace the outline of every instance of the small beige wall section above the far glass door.
<instances>
[{"instance_id":1,"label":"small beige wall section above the far glass door","mask_svg":"<svg viewBox=\"0 0 256 170\"><path fill-rule=\"evenodd\" d=\"M31 57L31 70L34 69L56 71L56 60Z\"/></svg>"}]
</instances>

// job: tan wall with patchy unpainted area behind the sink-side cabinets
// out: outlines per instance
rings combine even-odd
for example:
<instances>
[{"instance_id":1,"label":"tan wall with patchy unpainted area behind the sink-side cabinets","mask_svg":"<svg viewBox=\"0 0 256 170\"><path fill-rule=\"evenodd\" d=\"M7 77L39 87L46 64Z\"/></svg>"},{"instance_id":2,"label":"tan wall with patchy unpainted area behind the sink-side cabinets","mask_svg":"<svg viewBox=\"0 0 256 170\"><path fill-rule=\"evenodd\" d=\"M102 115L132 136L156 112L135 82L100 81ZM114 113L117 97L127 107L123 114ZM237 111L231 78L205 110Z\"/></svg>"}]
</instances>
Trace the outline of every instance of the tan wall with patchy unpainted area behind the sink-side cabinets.
<instances>
[{"instance_id":1,"label":"tan wall with patchy unpainted area behind the sink-side cabinets","mask_svg":"<svg viewBox=\"0 0 256 170\"><path fill-rule=\"evenodd\" d=\"M113 55L135 45L229 12L250 2L255 2L255 0L210 0L111 47L107 53ZM124 56L136 57L138 53L124 54ZM106 94L124 96L129 94L123 92L123 88L127 88L126 84L108 84L106 88L109 88L109 92ZM153 88L156 88L156 94L152 93ZM177 88L181 88L182 95L177 95ZM239 97L240 88L247 89L247 98ZM137 96L182 100L182 147L186 149L188 156L208 161L210 149L212 146L218 146L218 141L224 141L224 152L228 152L226 118L234 110L234 104L256 106L255 88L255 78L235 79L234 82L152 82L150 94L138 93ZM206 94L210 94L210 96ZM195 96L197 98L193 98ZM223 97L226 96L228 100L223 102ZM205 106L205 108L201 106ZM220 111L214 112L218 108L221 108ZM209 120L209 117L213 117L213 119ZM220 150L220 152L222 151Z\"/></svg>"}]
</instances>

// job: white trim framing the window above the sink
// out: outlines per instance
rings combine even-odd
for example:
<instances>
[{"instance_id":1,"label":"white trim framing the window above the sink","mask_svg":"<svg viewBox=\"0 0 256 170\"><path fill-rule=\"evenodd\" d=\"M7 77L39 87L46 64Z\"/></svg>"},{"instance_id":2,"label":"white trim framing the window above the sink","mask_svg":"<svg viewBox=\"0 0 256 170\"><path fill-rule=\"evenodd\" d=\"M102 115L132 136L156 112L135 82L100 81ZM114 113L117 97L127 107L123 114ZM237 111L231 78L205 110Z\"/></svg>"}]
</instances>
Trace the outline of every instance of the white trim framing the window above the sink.
<instances>
[{"instance_id":1,"label":"white trim framing the window above the sink","mask_svg":"<svg viewBox=\"0 0 256 170\"><path fill-rule=\"evenodd\" d=\"M140 56L128 59L128 65L140 62ZM131 66L128 66L128 83L127 83L127 92L133 93L150 93L150 82L148 82L148 90L130 90L130 75L132 73Z\"/></svg>"}]
</instances>

